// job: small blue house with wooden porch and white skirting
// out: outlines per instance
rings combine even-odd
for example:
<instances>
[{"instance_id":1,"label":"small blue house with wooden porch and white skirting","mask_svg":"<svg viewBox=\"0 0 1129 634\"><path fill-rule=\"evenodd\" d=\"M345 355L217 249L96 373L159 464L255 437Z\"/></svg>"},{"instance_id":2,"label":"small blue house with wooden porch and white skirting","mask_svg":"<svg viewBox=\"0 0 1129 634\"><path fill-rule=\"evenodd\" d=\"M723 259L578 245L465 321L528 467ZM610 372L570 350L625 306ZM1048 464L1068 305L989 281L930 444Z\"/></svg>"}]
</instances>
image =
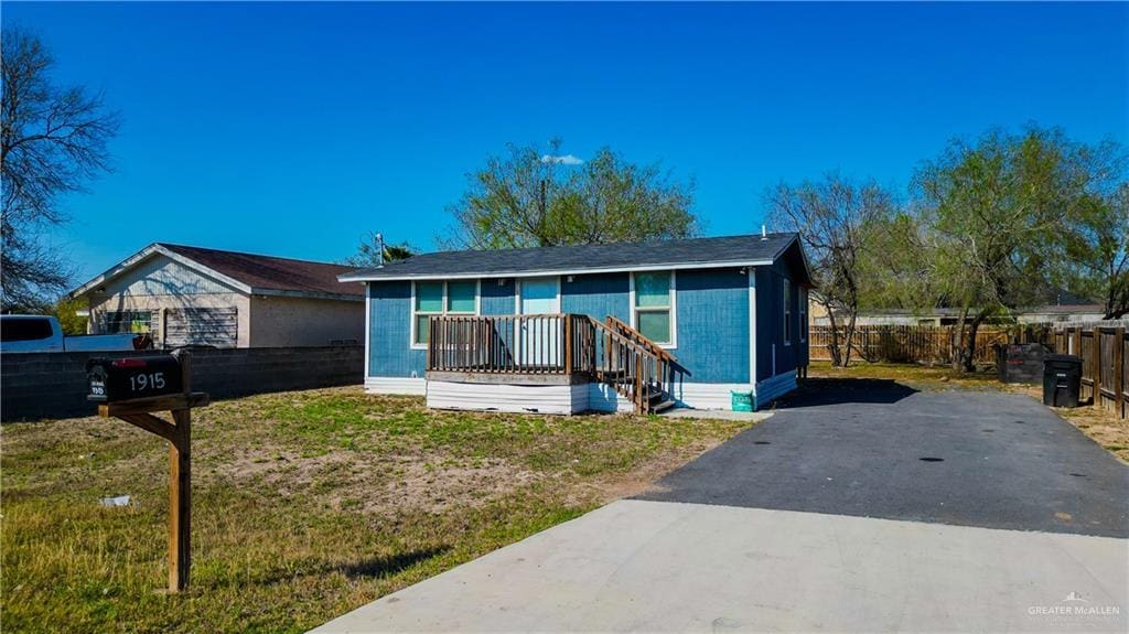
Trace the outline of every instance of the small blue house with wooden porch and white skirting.
<instances>
[{"instance_id":1,"label":"small blue house with wooden porch and white skirting","mask_svg":"<svg viewBox=\"0 0 1129 634\"><path fill-rule=\"evenodd\" d=\"M366 287L366 389L430 407L763 407L808 361L795 234L443 252L339 279Z\"/></svg>"}]
</instances>

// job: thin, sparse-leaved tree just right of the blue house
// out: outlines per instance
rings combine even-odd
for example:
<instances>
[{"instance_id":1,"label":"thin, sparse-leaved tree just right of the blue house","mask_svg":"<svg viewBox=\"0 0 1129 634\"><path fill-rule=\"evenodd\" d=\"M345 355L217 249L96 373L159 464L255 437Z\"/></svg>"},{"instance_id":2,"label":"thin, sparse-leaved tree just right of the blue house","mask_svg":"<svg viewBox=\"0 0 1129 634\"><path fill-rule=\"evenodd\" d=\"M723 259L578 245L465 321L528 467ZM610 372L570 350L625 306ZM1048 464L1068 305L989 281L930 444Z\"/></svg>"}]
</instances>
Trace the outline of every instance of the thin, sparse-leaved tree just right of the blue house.
<instances>
[{"instance_id":1,"label":"thin, sparse-leaved tree just right of the blue house","mask_svg":"<svg viewBox=\"0 0 1129 634\"><path fill-rule=\"evenodd\" d=\"M781 183L765 194L776 229L799 234L817 291L812 297L831 325L831 363L850 364L855 324L864 297L859 271L869 227L886 218L892 196L874 182L854 184L837 175L798 186Z\"/></svg>"}]
</instances>

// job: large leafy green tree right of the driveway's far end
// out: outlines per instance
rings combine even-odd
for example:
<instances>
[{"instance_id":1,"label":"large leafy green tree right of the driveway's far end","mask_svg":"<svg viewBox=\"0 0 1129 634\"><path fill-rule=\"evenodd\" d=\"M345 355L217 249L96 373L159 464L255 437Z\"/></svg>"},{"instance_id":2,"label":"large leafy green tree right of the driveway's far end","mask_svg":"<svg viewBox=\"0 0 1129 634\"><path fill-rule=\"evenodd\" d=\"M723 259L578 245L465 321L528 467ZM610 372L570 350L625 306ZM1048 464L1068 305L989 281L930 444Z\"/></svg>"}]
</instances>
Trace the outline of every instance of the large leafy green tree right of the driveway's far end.
<instances>
[{"instance_id":1,"label":"large leafy green tree right of the driveway's far end","mask_svg":"<svg viewBox=\"0 0 1129 634\"><path fill-rule=\"evenodd\" d=\"M917 171L914 210L926 228L917 257L933 291L917 301L960 310L955 368L973 369L987 319L1052 293L1062 241L1103 179L1094 156L1058 129L992 130L971 144L951 142Z\"/></svg>"}]
</instances>

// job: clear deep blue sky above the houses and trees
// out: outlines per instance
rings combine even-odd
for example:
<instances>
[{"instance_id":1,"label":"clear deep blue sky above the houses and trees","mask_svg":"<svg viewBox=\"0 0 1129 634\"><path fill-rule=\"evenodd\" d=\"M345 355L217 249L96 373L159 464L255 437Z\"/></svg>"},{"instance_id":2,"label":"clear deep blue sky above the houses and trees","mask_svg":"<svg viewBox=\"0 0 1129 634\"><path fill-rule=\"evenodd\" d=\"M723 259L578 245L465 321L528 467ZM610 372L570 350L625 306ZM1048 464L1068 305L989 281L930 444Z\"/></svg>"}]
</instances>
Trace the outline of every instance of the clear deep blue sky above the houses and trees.
<instances>
[{"instance_id":1,"label":"clear deep blue sky above the houses and trees","mask_svg":"<svg viewBox=\"0 0 1129 634\"><path fill-rule=\"evenodd\" d=\"M116 171L54 236L89 276L151 241L336 261L434 247L507 142L610 146L698 184L709 235L829 170L903 192L946 140L1126 143L1109 5L12 3L56 79L105 94Z\"/></svg>"}]
</instances>

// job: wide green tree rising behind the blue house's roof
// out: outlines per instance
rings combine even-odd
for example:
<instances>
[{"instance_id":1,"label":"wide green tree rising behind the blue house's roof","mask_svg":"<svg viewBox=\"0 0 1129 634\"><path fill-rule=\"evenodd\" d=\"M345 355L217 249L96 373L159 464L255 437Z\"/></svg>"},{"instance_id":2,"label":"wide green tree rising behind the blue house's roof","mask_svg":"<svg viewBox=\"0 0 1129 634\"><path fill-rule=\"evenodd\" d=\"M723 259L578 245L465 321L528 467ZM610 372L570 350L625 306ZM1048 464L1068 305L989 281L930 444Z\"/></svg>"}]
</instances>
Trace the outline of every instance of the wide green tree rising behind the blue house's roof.
<instances>
[{"instance_id":1,"label":"wide green tree rising behind the blue house's roof","mask_svg":"<svg viewBox=\"0 0 1129 634\"><path fill-rule=\"evenodd\" d=\"M509 144L469 175L470 186L449 211L453 248L497 249L606 244L697 234L693 183L680 183L659 165L636 165L609 148L587 161Z\"/></svg>"}]
</instances>

